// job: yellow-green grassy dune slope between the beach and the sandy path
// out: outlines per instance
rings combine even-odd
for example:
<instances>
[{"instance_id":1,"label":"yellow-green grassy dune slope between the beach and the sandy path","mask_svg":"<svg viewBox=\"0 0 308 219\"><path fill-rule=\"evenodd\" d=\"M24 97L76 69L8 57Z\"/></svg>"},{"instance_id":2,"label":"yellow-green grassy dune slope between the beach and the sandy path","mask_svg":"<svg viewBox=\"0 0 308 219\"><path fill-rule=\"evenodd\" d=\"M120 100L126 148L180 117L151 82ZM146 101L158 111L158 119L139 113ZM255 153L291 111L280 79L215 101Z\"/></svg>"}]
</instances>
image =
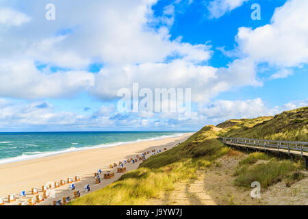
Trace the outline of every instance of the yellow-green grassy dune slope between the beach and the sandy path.
<instances>
[{"instance_id":1,"label":"yellow-green grassy dune slope between the beach and the sandy path","mask_svg":"<svg viewBox=\"0 0 308 219\"><path fill-rule=\"evenodd\" d=\"M146 159L137 170L70 205L146 205L150 198L172 191L177 181L196 179L197 170L213 165L217 157L229 151L212 127L204 127L173 149Z\"/></svg>"}]
</instances>

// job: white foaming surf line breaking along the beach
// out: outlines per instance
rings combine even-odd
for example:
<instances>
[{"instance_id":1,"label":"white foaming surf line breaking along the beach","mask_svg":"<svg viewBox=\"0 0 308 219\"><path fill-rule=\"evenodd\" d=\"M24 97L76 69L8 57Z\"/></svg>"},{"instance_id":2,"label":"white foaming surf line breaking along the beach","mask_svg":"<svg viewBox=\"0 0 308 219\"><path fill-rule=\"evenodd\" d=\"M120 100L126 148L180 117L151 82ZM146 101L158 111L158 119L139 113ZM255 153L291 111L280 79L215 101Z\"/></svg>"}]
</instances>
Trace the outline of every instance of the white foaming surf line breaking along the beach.
<instances>
[{"instance_id":1,"label":"white foaming surf line breaking along the beach","mask_svg":"<svg viewBox=\"0 0 308 219\"><path fill-rule=\"evenodd\" d=\"M123 144L132 144L136 142L146 142L146 141L152 141L152 140L162 140L164 138L175 138L175 137L180 137L185 135L186 133L175 133L170 136L157 136L153 138L144 138L144 139L138 139L135 141L131 142L113 142L113 143L108 143L108 144L99 144L96 146L84 146L84 147L70 147L68 149L62 149L60 151L29 151L29 152L24 152L22 155L17 156L17 157L10 157L10 158L4 158L0 159L0 164L7 164L7 163L12 163L12 162L21 162L23 160L27 159L37 159L41 157L49 157L53 155L60 155L62 153L69 153L69 152L74 152L74 151L86 151L89 149L101 149L101 148L107 148L110 146L118 146L118 145L123 145Z\"/></svg>"}]
</instances>

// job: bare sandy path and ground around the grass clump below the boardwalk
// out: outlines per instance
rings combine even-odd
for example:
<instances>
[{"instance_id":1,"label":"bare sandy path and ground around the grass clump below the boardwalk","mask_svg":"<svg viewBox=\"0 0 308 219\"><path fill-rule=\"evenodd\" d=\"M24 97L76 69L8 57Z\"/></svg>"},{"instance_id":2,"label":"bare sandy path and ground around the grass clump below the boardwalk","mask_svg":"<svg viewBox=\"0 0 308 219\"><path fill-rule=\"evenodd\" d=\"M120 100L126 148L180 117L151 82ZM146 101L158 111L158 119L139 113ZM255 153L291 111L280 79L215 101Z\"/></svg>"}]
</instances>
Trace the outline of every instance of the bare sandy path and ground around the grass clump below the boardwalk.
<instances>
[{"instance_id":1,"label":"bare sandy path and ground around the grass clump below the boardwalk","mask_svg":"<svg viewBox=\"0 0 308 219\"><path fill-rule=\"evenodd\" d=\"M287 188L282 181L251 198L250 189L233 185L232 174L238 162L246 157L230 151L208 170L198 172L196 181L181 182L169 196L169 205L308 205L308 177ZM259 164L260 162L257 162ZM256 165L256 164L255 164ZM308 172L303 170L305 174Z\"/></svg>"}]
</instances>

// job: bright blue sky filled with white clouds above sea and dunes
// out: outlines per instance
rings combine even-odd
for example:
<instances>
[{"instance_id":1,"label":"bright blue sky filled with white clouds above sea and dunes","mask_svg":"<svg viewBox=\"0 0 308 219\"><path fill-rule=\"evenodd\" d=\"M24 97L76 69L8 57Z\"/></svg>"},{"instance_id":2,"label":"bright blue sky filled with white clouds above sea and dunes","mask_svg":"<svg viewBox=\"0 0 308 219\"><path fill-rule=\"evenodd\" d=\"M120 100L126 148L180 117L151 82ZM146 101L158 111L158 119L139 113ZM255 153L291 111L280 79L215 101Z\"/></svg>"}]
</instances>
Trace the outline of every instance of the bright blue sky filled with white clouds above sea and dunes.
<instances>
[{"instance_id":1,"label":"bright blue sky filled with white clouds above sea and dunes","mask_svg":"<svg viewBox=\"0 0 308 219\"><path fill-rule=\"evenodd\" d=\"M307 106L307 8L0 0L0 131L194 131ZM190 88L191 113L120 112L118 91L133 83Z\"/></svg>"}]
</instances>

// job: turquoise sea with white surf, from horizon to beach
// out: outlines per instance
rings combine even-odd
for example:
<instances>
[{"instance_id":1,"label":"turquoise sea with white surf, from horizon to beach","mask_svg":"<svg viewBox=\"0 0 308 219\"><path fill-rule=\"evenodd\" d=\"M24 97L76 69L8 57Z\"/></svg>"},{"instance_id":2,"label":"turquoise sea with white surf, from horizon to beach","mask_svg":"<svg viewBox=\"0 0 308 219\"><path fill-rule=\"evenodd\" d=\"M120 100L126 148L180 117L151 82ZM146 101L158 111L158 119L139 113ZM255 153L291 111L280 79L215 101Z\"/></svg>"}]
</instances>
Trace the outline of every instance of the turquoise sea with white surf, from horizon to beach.
<instances>
[{"instance_id":1,"label":"turquoise sea with white surf, from horizon to beach","mask_svg":"<svg viewBox=\"0 0 308 219\"><path fill-rule=\"evenodd\" d=\"M181 136L186 131L104 131L0 133L0 164L24 159L114 146L127 142Z\"/></svg>"}]
</instances>

